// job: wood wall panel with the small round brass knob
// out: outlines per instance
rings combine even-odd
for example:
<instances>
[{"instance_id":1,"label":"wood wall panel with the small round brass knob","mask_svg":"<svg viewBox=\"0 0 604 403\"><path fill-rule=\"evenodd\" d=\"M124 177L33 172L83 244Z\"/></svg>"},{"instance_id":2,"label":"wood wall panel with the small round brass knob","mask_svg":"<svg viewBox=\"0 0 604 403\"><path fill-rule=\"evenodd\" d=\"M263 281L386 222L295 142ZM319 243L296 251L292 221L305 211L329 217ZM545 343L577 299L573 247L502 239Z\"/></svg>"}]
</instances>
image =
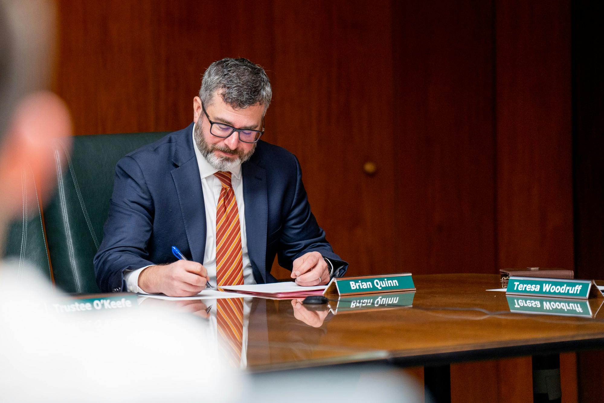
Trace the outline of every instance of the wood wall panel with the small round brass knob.
<instances>
[{"instance_id":1,"label":"wood wall panel with the small round brass knob","mask_svg":"<svg viewBox=\"0 0 604 403\"><path fill-rule=\"evenodd\" d=\"M275 2L275 143L300 159L313 212L356 275L405 271L393 220L389 15L388 1Z\"/></svg>"}]
</instances>

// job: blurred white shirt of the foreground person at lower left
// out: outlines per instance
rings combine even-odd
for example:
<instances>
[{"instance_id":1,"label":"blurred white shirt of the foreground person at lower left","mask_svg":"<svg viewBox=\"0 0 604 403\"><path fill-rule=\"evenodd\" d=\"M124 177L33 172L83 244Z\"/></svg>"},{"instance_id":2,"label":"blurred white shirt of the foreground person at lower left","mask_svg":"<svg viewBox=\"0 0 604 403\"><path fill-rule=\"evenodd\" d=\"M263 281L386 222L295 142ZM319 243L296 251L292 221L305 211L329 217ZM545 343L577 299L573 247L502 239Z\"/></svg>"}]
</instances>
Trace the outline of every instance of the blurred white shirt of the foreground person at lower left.
<instances>
[{"instance_id":1,"label":"blurred white shirt of the foreground person at lower left","mask_svg":"<svg viewBox=\"0 0 604 403\"><path fill-rule=\"evenodd\" d=\"M91 321L56 315L53 301L69 297L7 266L0 265L0 401L241 401L247 378L204 349L200 321L164 309Z\"/></svg>"}]
</instances>

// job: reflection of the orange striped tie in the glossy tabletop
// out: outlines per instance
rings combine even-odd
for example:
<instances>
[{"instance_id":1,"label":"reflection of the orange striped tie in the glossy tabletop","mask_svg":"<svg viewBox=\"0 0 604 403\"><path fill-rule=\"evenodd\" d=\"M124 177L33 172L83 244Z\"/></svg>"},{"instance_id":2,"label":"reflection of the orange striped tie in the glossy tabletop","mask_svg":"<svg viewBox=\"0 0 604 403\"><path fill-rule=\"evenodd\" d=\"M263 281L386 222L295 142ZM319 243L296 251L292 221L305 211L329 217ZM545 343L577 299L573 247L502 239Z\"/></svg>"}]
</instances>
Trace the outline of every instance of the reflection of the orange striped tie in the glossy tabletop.
<instances>
[{"instance_id":1,"label":"reflection of the orange striped tie in the glossy tabletop","mask_svg":"<svg viewBox=\"0 0 604 403\"><path fill-rule=\"evenodd\" d=\"M221 298L216 315L220 346L234 367L241 365L243 342L243 298Z\"/></svg>"}]
</instances>

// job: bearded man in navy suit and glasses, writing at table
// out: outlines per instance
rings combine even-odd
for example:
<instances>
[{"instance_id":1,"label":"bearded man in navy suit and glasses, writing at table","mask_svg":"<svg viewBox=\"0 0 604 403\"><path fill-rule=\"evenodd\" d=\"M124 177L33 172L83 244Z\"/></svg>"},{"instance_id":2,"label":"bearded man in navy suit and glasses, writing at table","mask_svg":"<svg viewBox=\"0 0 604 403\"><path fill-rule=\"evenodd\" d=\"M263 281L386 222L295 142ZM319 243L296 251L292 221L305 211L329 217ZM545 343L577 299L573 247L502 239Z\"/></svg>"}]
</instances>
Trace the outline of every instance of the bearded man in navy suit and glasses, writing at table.
<instances>
[{"instance_id":1,"label":"bearded man in navy suit and glasses, writing at table","mask_svg":"<svg viewBox=\"0 0 604 403\"><path fill-rule=\"evenodd\" d=\"M233 221L227 253L239 284L274 282L275 254L301 286L344 275L348 264L310 211L298 160L259 141L271 96L262 67L247 59L214 62L193 99L194 122L118 162L94 258L101 290L182 297L208 283L225 285L217 267L231 256L222 259L217 250L225 242L224 217ZM233 212L221 215L225 189L234 195L226 198ZM176 260L172 246L187 260Z\"/></svg>"}]
</instances>

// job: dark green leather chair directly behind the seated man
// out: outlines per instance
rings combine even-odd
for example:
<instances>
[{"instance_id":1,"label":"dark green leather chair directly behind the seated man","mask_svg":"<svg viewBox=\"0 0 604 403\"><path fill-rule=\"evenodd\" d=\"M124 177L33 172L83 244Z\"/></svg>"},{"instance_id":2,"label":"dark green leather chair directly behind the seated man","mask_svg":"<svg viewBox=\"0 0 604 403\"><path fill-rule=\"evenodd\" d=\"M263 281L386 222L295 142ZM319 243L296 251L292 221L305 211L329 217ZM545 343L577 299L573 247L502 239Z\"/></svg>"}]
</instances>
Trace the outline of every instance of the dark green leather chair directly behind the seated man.
<instances>
[{"instance_id":1,"label":"dark green leather chair directly behind the seated man","mask_svg":"<svg viewBox=\"0 0 604 403\"><path fill-rule=\"evenodd\" d=\"M65 292L99 292L92 258L103 240L115 164L167 132L75 136L71 153L58 143L57 191L44 209L54 282Z\"/></svg>"}]
</instances>

